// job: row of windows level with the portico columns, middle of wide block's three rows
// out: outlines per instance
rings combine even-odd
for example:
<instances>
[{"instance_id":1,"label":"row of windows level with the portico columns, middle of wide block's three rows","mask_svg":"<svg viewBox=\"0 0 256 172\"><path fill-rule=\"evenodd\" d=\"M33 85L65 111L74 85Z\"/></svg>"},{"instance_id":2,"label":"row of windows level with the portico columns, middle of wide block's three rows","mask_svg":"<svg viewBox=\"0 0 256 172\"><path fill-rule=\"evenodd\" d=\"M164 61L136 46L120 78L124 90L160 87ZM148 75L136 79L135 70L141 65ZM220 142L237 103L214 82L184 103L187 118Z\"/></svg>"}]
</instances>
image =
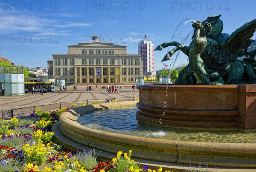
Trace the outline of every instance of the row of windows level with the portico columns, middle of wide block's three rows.
<instances>
[{"instance_id":1,"label":"row of windows level with the portico columns, middle of wide block's three rows","mask_svg":"<svg viewBox=\"0 0 256 172\"><path fill-rule=\"evenodd\" d=\"M81 74L82 76L87 76L87 68L81 68ZM62 75L67 75L68 71L67 68L62 68ZM88 68L89 76L94 76L94 68ZM127 74L126 68L121 69L122 75ZM110 68L108 73L108 68L102 68L102 74L103 76L108 75L115 75L115 68ZM128 75L140 75L140 68L128 68ZM61 68L55 68L55 75L61 75ZM69 75L75 75L75 68L70 68ZM80 71L77 70L77 75L80 75ZM97 76L100 76L101 73L96 73Z\"/></svg>"}]
</instances>

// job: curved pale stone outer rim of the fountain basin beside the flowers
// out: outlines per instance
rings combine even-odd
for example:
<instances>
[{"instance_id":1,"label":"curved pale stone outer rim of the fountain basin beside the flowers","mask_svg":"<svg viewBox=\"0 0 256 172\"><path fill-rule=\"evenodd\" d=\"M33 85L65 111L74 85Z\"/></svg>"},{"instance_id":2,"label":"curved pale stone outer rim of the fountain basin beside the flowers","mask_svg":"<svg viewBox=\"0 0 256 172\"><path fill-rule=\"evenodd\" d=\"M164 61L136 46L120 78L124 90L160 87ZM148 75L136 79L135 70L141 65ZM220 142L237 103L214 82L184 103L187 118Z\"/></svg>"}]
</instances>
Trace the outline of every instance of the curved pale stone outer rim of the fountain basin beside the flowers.
<instances>
[{"instance_id":1,"label":"curved pale stone outer rim of the fountain basin beside the flowers","mask_svg":"<svg viewBox=\"0 0 256 172\"><path fill-rule=\"evenodd\" d=\"M73 141L114 154L132 150L135 158L163 163L256 168L256 144L142 138L90 129L77 122L77 118L84 113L105 108L126 108L136 106L136 103L137 101L104 103L67 110L59 118L59 130Z\"/></svg>"}]
</instances>

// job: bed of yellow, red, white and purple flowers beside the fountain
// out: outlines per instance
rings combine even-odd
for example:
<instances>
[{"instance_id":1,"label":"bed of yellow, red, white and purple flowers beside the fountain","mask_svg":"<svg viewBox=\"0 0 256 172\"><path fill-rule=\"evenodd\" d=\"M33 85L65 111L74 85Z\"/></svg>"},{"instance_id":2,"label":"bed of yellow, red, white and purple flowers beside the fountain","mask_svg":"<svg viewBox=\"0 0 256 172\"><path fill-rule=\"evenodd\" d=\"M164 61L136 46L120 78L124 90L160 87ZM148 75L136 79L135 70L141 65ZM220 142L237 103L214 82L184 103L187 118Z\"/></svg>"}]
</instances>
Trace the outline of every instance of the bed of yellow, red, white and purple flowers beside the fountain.
<instances>
[{"instance_id":1,"label":"bed of yellow, red, white and purple flowers beside the fountain","mask_svg":"<svg viewBox=\"0 0 256 172\"><path fill-rule=\"evenodd\" d=\"M75 105L75 104L74 104ZM71 107L72 108L72 107ZM0 171L8 172L162 172L152 170L118 152L112 161L97 163L95 150L73 152L54 144L53 124L70 108L52 112L37 109L36 114L0 120ZM123 154L123 155L122 155ZM165 171L169 172L169 171Z\"/></svg>"}]
</instances>

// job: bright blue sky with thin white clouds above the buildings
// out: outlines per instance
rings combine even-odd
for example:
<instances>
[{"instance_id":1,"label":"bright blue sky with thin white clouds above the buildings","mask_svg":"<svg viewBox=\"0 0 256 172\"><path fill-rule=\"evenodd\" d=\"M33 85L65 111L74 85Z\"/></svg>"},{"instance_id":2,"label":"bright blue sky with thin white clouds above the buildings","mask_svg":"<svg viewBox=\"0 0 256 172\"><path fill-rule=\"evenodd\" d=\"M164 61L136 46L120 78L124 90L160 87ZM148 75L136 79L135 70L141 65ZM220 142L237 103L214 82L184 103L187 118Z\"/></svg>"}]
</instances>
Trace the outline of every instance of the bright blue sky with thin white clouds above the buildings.
<instances>
[{"instance_id":1,"label":"bright blue sky with thin white clouds above the buildings","mask_svg":"<svg viewBox=\"0 0 256 172\"><path fill-rule=\"evenodd\" d=\"M147 35L155 48L163 42L183 42L192 30L189 19L205 20L221 14L222 33L231 34L256 18L255 0L2 0L0 2L1 57L15 65L47 67L52 54L66 54L97 34L101 40L127 45L137 54L137 44ZM184 20L185 19L185 20ZM184 20L180 25L179 23ZM179 27L177 28L177 26ZM175 31L175 29L177 30ZM174 35L175 34L175 35ZM174 35L174 36L173 36ZM252 39L256 39L253 35ZM191 36L184 43L189 45ZM171 50L171 48L169 48ZM168 48L155 51L155 69ZM173 59L176 58L176 54ZM174 60L166 61L173 65ZM186 64L180 53L174 66Z\"/></svg>"}]
</instances>

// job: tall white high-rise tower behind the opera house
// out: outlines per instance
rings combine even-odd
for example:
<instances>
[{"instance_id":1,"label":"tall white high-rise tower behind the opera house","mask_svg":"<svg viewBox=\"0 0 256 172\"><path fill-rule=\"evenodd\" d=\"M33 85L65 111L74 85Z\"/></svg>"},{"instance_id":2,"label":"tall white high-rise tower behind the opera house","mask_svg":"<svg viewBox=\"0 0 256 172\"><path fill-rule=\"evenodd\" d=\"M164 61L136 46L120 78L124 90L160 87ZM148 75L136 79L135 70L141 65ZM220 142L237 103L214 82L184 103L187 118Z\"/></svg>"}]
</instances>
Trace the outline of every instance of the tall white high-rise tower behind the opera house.
<instances>
[{"instance_id":1,"label":"tall white high-rise tower behind the opera house","mask_svg":"<svg viewBox=\"0 0 256 172\"><path fill-rule=\"evenodd\" d=\"M141 54L143 74L154 72L154 44L152 41L140 41L138 44L138 54Z\"/></svg>"}]
</instances>

